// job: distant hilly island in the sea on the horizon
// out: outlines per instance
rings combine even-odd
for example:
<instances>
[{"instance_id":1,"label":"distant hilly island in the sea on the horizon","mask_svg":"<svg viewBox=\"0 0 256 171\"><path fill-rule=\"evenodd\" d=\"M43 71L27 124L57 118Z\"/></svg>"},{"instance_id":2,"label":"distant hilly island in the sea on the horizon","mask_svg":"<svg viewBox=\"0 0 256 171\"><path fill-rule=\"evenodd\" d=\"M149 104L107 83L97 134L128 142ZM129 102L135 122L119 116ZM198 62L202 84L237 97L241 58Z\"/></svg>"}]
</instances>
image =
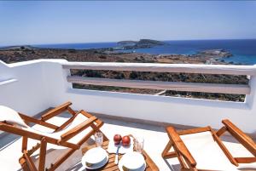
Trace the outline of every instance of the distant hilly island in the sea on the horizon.
<instances>
[{"instance_id":1,"label":"distant hilly island in the sea on the horizon","mask_svg":"<svg viewBox=\"0 0 256 171\"><path fill-rule=\"evenodd\" d=\"M140 39L139 41L120 41L117 44L124 49L136 49L153 48L154 46L165 45L166 43L152 39Z\"/></svg>"}]
</instances>

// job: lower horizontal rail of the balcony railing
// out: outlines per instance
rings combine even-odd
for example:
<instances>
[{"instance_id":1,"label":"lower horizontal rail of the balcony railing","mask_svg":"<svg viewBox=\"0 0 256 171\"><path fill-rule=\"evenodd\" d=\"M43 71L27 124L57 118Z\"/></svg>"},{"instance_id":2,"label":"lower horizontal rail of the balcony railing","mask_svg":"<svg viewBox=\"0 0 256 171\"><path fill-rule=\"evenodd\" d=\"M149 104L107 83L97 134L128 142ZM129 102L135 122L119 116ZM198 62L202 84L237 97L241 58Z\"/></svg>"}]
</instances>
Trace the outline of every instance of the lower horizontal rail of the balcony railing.
<instances>
[{"instance_id":1,"label":"lower horizontal rail of the balcony railing","mask_svg":"<svg viewBox=\"0 0 256 171\"><path fill-rule=\"evenodd\" d=\"M73 76L68 76L67 82L126 88L169 89L175 91L207 92L220 94L250 94L250 87L248 85L241 84L181 83Z\"/></svg>"}]
</instances>

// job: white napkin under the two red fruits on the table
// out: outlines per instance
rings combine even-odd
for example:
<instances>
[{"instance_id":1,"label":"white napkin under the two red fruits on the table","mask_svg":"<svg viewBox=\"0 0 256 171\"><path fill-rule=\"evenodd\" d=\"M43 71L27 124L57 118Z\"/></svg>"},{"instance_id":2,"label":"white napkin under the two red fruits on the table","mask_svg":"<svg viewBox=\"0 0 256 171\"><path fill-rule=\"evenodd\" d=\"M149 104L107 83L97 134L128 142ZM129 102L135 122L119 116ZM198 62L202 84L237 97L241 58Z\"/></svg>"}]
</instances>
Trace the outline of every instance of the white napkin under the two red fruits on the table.
<instances>
[{"instance_id":1,"label":"white napkin under the two red fruits on the table","mask_svg":"<svg viewBox=\"0 0 256 171\"><path fill-rule=\"evenodd\" d=\"M125 154L126 152L131 152L133 151L133 138L131 138L131 144L129 146L123 146L122 143L120 144L120 148L119 148L119 154ZM113 140L110 140L108 143L108 153L116 153L117 149L118 149L119 145L114 145Z\"/></svg>"}]
</instances>

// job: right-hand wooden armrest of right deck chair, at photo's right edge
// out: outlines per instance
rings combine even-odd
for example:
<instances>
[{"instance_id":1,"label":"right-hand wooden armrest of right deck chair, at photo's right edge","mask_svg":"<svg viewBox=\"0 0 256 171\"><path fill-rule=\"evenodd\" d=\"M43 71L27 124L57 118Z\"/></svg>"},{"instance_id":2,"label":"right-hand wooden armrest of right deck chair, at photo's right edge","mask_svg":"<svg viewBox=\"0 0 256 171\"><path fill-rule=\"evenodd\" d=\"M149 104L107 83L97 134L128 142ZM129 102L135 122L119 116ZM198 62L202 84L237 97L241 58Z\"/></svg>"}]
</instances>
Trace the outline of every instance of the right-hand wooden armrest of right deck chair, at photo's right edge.
<instances>
[{"instance_id":1,"label":"right-hand wooden armrest of right deck chair, at photo's right edge","mask_svg":"<svg viewBox=\"0 0 256 171\"><path fill-rule=\"evenodd\" d=\"M254 157L256 157L256 144L253 140L247 136L247 134L244 134L240 128L237 128L236 125L231 123L230 120L225 119L222 123L224 123L224 126L230 134L234 136L234 138L238 140L248 151L250 151Z\"/></svg>"}]
</instances>

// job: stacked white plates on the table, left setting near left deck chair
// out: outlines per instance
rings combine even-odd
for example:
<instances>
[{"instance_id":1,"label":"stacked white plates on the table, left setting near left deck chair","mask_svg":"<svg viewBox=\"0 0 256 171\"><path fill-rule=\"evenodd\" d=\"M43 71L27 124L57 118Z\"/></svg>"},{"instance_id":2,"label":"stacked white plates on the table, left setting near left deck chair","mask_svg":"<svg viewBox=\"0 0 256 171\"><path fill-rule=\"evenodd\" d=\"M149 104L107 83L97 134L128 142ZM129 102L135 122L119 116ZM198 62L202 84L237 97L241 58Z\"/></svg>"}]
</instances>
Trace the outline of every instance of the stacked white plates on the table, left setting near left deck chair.
<instances>
[{"instance_id":1,"label":"stacked white plates on the table, left setting near left deck chair","mask_svg":"<svg viewBox=\"0 0 256 171\"><path fill-rule=\"evenodd\" d=\"M86 151L82 157L84 168L96 169L102 168L108 162L108 153L101 147L92 148Z\"/></svg>"}]
</instances>

